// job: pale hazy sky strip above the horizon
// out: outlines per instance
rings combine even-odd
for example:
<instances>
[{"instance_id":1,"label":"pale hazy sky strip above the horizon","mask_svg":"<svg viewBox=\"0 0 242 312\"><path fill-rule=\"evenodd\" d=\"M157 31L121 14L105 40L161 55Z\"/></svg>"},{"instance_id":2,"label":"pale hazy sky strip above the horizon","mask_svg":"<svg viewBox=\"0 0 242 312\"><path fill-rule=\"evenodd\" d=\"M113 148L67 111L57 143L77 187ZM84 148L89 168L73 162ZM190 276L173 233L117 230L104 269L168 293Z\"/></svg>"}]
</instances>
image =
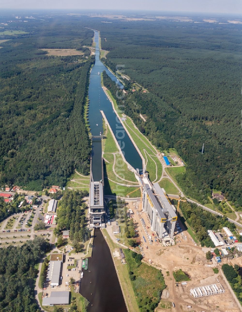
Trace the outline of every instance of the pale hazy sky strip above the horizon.
<instances>
[{"instance_id":1,"label":"pale hazy sky strip above the horizon","mask_svg":"<svg viewBox=\"0 0 242 312\"><path fill-rule=\"evenodd\" d=\"M0 0L0 8L157 10L242 14L242 0Z\"/></svg>"}]
</instances>

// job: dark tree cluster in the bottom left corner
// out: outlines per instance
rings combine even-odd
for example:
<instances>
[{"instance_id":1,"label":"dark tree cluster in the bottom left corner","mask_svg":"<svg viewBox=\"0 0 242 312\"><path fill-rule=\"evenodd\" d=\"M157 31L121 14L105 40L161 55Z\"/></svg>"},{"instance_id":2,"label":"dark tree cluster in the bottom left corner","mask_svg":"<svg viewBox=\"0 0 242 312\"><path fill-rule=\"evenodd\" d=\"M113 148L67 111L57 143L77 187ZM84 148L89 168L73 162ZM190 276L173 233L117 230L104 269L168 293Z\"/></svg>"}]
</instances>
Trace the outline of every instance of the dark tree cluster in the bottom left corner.
<instances>
[{"instance_id":1,"label":"dark tree cluster in the bottom left corner","mask_svg":"<svg viewBox=\"0 0 242 312\"><path fill-rule=\"evenodd\" d=\"M48 248L49 243L36 237L23 246L0 249L0 311L40 311L34 295L36 264Z\"/></svg>"}]
</instances>

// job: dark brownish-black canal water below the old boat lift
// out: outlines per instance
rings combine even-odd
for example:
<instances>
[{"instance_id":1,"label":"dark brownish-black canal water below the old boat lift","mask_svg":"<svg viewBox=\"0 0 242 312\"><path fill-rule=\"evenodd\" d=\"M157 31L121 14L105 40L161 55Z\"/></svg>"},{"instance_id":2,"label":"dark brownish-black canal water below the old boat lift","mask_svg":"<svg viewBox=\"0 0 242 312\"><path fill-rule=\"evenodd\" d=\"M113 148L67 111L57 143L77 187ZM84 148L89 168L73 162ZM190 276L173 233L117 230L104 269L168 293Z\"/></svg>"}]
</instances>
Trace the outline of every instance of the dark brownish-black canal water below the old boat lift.
<instances>
[{"instance_id":1,"label":"dark brownish-black canal water below the old boat lift","mask_svg":"<svg viewBox=\"0 0 242 312\"><path fill-rule=\"evenodd\" d=\"M100 229L95 229L93 253L88 259L80 284L80 294L90 302L88 312L126 312L113 259Z\"/></svg>"}]
</instances>

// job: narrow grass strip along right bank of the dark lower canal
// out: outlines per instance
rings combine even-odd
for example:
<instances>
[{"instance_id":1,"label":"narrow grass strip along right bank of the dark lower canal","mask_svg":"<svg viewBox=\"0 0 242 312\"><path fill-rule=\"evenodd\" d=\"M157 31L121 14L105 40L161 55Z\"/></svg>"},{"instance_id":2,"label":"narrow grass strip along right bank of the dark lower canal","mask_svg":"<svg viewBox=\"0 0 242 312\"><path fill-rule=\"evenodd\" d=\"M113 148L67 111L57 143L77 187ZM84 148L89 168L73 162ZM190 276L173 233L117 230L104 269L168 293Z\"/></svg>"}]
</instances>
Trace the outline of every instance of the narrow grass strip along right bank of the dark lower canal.
<instances>
[{"instance_id":1,"label":"narrow grass strip along right bank of the dark lower canal","mask_svg":"<svg viewBox=\"0 0 242 312\"><path fill-rule=\"evenodd\" d=\"M106 241L109 245L111 252L113 252L115 248L120 248L120 246L118 244L115 244L111 240L107 230L103 229L102 232L106 236ZM115 258L114 258L114 263L115 263L115 266L118 270L119 281L120 281L121 287L123 289L125 301L128 305L128 311L139 312L139 308L138 308L137 301L136 301L136 298L134 295L131 280L129 279L129 276L128 276L127 264L123 265L119 259L115 259Z\"/></svg>"}]
</instances>

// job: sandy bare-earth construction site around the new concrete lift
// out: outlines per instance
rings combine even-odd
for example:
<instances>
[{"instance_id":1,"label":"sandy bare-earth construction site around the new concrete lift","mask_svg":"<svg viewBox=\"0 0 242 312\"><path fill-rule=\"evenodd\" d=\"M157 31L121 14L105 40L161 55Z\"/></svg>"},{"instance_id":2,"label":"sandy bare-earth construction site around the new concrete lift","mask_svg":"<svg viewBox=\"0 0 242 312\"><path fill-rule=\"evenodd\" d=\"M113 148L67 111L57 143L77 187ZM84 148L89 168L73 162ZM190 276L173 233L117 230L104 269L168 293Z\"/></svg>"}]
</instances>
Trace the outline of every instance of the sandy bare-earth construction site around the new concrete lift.
<instances>
[{"instance_id":1,"label":"sandy bare-earth construction site around the new concrete lift","mask_svg":"<svg viewBox=\"0 0 242 312\"><path fill-rule=\"evenodd\" d=\"M135 202L128 203L129 208L134 212L133 221L138 235L138 241L143 247L144 261L161 269L167 285L166 290L163 291L162 300L156 309L157 311L167 311L168 309L174 311L221 311L221 312L239 312L241 307L237 304L234 294L231 293L227 285L227 280L222 276L221 264L214 264L206 260L206 251L208 249L196 246L191 236L182 223L178 220L182 232L175 232L176 244L173 246L163 246L161 242L154 241L154 236L150 230L149 218L145 212L142 212L139 205ZM141 218L145 221L146 228L144 228ZM146 233L147 231L147 233ZM182 234L181 234L182 233ZM146 242L143 239L146 239ZM152 236L152 245L149 243L148 237ZM147 247L148 249L147 249ZM227 263L222 261L223 263ZM232 264L232 263L231 263ZM218 268L219 273L215 274L213 268ZM177 283L174 279L173 272L181 269L189 276L189 281L186 285ZM203 296L194 298L190 294L190 289L205 285L220 283L225 292L217 295ZM166 303L174 303L166 306ZM164 304L163 304L164 303Z\"/></svg>"}]
</instances>

